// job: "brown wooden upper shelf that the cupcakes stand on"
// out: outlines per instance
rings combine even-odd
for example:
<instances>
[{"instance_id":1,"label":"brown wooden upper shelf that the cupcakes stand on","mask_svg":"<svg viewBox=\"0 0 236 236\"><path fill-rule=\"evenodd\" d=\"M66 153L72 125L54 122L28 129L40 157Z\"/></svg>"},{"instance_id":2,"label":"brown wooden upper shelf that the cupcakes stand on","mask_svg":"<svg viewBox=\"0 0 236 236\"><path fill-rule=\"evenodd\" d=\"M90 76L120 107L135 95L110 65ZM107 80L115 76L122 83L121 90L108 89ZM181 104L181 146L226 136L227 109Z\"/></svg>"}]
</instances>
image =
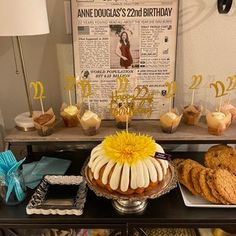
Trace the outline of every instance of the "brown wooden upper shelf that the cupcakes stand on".
<instances>
[{"instance_id":1,"label":"brown wooden upper shelf that the cupcakes stand on","mask_svg":"<svg viewBox=\"0 0 236 236\"><path fill-rule=\"evenodd\" d=\"M161 131L158 120L137 120L132 121L130 132L148 134L159 143L236 143L236 122L221 136L208 134L207 125L203 119L197 126L180 124L173 134L166 134ZM97 144L105 136L120 131L115 127L114 121L102 121L99 133L94 136L85 136L81 127L65 128L61 122L55 127L54 133L50 136L41 137L36 131L22 132L12 129L7 132L5 141L11 144L40 144L48 142L56 143L84 143L84 145Z\"/></svg>"}]
</instances>

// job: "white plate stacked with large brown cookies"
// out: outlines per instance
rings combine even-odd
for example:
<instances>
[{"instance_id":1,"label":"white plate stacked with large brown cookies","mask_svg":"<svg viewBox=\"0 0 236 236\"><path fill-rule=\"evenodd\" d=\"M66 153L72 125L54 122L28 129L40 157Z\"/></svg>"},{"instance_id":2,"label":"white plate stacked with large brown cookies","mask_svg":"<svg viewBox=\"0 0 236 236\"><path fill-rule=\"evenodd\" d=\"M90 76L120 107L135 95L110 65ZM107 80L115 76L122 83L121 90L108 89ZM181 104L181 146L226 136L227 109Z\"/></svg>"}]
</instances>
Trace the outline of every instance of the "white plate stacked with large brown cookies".
<instances>
[{"instance_id":1,"label":"white plate stacked with large brown cookies","mask_svg":"<svg viewBox=\"0 0 236 236\"><path fill-rule=\"evenodd\" d=\"M236 208L236 150L214 145L204 164L192 159L174 161L179 187L188 207Z\"/></svg>"}]
</instances>

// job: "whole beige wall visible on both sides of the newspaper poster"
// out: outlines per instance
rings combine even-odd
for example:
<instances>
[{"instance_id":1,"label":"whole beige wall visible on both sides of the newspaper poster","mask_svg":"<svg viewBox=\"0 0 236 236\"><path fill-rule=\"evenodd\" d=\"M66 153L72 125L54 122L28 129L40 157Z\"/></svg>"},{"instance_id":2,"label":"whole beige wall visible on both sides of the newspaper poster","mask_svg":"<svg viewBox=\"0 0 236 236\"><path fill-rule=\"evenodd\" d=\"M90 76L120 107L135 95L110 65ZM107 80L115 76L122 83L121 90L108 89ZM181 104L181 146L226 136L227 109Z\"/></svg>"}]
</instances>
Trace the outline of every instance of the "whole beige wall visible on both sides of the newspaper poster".
<instances>
[{"instance_id":1,"label":"whole beige wall visible on both sides of the newspaper poster","mask_svg":"<svg viewBox=\"0 0 236 236\"><path fill-rule=\"evenodd\" d=\"M213 108L209 100L212 104L215 102L209 81L224 80L228 75L236 74L236 11L233 9L229 15L220 15L216 3L216 0L180 0L176 70L178 107L189 102L187 87L193 74L200 73L204 77L205 85L196 99L208 109ZM44 83L45 107L52 106L58 113L65 100L63 77L73 71L72 39L66 34L64 1L47 0L47 6L50 34L23 37L22 43L29 80ZM0 72L0 109L6 127L11 128L14 117L27 111L27 105L22 78L15 75L9 37L0 37ZM234 103L235 97L234 94ZM39 104L34 102L33 105L34 109L39 109Z\"/></svg>"}]
</instances>

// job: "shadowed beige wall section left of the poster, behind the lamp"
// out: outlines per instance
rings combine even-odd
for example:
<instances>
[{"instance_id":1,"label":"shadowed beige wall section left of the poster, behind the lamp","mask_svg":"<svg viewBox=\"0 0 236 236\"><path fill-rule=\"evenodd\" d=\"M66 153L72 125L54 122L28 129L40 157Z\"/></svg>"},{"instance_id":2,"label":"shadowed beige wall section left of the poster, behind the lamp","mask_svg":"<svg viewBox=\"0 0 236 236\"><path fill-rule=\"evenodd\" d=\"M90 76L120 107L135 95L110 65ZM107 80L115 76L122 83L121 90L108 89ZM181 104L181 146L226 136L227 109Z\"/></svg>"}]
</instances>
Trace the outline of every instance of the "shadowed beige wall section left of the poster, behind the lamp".
<instances>
[{"instance_id":1,"label":"shadowed beige wall section left of the poster, behind the lamp","mask_svg":"<svg viewBox=\"0 0 236 236\"><path fill-rule=\"evenodd\" d=\"M73 72L72 38L66 34L64 1L48 0L47 9L50 34L21 39L29 81L43 82L45 108L52 106L58 113L63 100L62 78ZM20 67L19 61L17 64ZM10 37L0 37L0 71L0 109L8 129L14 127L17 114L28 111L22 75L15 74ZM33 109L40 109L38 102L33 101Z\"/></svg>"}]
</instances>

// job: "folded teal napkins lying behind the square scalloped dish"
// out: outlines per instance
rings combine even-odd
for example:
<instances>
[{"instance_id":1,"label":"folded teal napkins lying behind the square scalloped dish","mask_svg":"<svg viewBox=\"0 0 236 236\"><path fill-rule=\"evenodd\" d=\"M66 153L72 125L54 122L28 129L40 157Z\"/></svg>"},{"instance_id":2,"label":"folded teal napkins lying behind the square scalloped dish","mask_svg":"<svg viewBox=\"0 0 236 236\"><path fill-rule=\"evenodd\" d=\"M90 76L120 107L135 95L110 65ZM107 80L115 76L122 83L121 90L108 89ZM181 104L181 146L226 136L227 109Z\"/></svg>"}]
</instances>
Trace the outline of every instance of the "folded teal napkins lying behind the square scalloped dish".
<instances>
[{"instance_id":1,"label":"folded teal napkins lying behind the square scalloped dish","mask_svg":"<svg viewBox=\"0 0 236 236\"><path fill-rule=\"evenodd\" d=\"M25 185L34 189L44 175L64 175L71 161L43 156L40 161L23 165Z\"/></svg>"}]
</instances>

